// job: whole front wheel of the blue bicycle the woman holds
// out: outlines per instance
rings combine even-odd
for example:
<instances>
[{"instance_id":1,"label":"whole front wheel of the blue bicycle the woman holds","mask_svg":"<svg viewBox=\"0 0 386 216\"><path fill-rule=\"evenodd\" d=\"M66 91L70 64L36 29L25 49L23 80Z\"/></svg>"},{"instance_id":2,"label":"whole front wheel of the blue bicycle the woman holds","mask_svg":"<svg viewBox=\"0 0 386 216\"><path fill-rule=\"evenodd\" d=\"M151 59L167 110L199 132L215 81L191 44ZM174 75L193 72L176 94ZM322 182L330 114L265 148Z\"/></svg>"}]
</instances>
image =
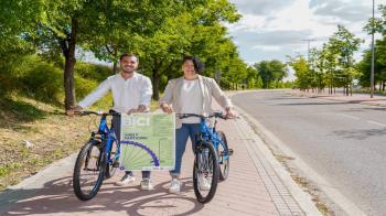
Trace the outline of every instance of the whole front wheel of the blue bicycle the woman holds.
<instances>
[{"instance_id":1,"label":"whole front wheel of the blue bicycle the woman holds","mask_svg":"<svg viewBox=\"0 0 386 216\"><path fill-rule=\"evenodd\" d=\"M193 166L193 187L200 203L208 203L215 195L218 182L216 152L210 142L196 143Z\"/></svg>"}]
</instances>

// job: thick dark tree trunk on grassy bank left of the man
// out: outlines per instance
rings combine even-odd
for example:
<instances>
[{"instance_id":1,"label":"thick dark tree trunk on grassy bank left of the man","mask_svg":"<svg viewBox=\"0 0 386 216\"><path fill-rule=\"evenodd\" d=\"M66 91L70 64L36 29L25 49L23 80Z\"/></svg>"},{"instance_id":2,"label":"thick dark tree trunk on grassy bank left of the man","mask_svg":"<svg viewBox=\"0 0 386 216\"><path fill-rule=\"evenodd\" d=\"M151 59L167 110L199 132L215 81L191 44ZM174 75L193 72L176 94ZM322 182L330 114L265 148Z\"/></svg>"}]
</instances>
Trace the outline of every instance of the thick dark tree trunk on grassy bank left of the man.
<instances>
[{"instance_id":1,"label":"thick dark tree trunk on grassy bank left of the man","mask_svg":"<svg viewBox=\"0 0 386 216\"><path fill-rule=\"evenodd\" d=\"M64 107L66 110L74 107L76 104L75 98L75 85L74 85L74 67L76 63L75 58L75 45L77 36L77 20L76 18L71 19L71 33L64 43L62 43L62 51L65 57L64 64Z\"/></svg>"}]
</instances>

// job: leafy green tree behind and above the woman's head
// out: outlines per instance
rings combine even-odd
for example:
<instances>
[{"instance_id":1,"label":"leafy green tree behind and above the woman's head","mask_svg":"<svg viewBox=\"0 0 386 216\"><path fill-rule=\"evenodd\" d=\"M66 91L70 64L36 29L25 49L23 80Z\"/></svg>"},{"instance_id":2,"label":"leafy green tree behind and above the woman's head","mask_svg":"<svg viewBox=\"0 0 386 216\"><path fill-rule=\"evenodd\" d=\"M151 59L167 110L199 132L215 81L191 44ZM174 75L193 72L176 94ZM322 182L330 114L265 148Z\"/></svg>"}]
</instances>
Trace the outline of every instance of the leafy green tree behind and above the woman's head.
<instances>
[{"instance_id":1,"label":"leafy green tree behind and above the woman's head","mask_svg":"<svg viewBox=\"0 0 386 216\"><path fill-rule=\"evenodd\" d=\"M184 11L184 10L181 10ZM183 55L196 55L206 63L204 75L214 76L235 47L226 39L223 22L239 19L226 0L210 0L182 13L170 14L154 34L143 39L144 69L151 72L153 98L159 98L162 76L173 77L181 71ZM223 72L225 74L226 71Z\"/></svg>"}]
</instances>

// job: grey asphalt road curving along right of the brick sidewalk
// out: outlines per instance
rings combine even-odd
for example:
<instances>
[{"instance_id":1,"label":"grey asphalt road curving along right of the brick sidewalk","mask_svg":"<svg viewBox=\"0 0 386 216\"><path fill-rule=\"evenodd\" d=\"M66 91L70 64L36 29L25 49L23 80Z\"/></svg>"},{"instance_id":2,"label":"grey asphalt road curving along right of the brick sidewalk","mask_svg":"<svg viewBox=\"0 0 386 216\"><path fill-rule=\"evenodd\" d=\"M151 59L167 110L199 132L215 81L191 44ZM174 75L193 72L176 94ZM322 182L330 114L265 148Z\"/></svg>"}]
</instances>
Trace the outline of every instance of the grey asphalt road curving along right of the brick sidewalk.
<instances>
[{"instance_id":1,"label":"grey asphalt road curving along right of the brick sidewalk","mask_svg":"<svg viewBox=\"0 0 386 216\"><path fill-rule=\"evenodd\" d=\"M232 100L364 213L386 214L386 107L282 91Z\"/></svg>"}]
</instances>

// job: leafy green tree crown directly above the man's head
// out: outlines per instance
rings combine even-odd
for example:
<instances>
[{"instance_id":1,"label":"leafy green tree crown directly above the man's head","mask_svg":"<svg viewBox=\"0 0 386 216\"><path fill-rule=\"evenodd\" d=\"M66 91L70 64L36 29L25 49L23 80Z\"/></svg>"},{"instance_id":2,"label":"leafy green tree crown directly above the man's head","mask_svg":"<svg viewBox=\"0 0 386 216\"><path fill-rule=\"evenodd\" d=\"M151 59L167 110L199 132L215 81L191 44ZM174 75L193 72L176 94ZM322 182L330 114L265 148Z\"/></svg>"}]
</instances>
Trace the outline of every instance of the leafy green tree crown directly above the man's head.
<instances>
[{"instance_id":1,"label":"leafy green tree crown directly above the man's head","mask_svg":"<svg viewBox=\"0 0 386 216\"><path fill-rule=\"evenodd\" d=\"M187 4L201 0L184 1L98 1L93 3L90 29L84 47L96 57L114 63L117 72L118 55L124 52L142 55L143 43L153 36L168 19L185 11Z\"/></svg>"}]
</instances>

